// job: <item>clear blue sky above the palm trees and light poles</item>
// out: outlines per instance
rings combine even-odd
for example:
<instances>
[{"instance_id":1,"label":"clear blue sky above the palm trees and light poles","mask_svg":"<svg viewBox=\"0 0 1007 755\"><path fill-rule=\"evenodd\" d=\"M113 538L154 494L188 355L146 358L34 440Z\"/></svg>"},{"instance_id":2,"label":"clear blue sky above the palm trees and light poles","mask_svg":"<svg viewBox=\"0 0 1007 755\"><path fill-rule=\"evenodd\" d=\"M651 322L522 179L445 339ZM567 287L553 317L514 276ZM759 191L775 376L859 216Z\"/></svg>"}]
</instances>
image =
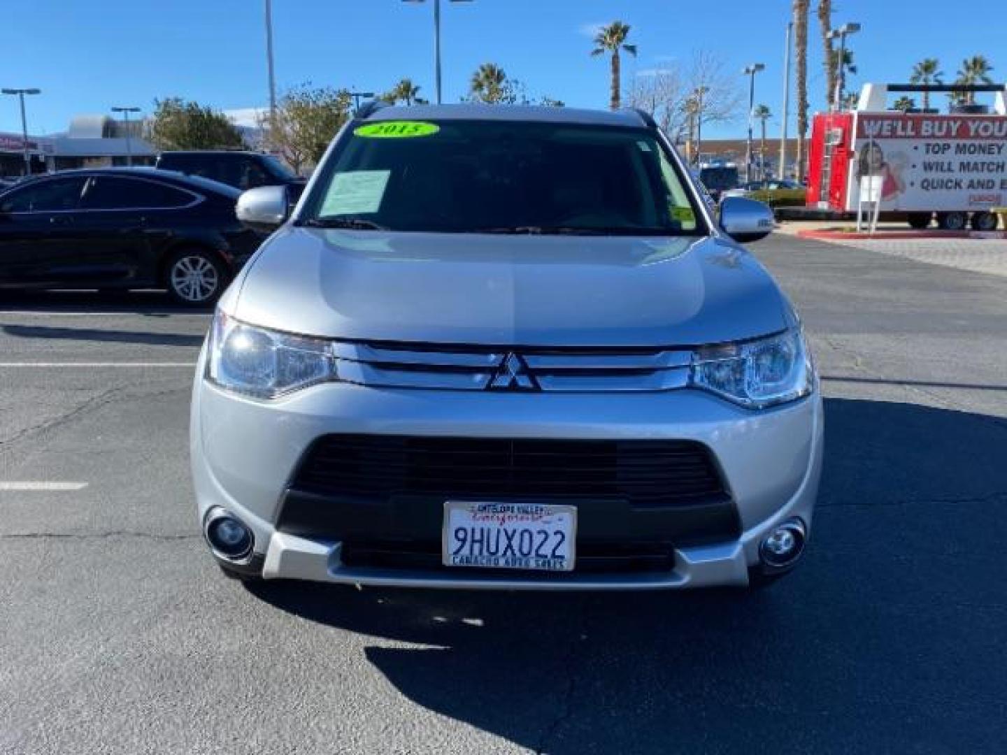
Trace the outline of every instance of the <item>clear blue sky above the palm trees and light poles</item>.
<instances>
[{"instance_id":1,"label":"clear blue sky above the palm trees and light poles","mask_svg":"<svg viewBox=\"0 0 1007 755\"><path fill-rule=\"evenodd\" d=\"M464 94L480 63L499 63L533 96L568 105L607 105L608 68L591 58L589 29L621 19L639 46L634 70L716 52L730 72L765 62L757 102L778 115L783 30L790 0L444 0L445 101ZM852 39L860 74L853 81L905 81L913 61L931 55L954 74L963 57L987 54L1007 78L1002 20L959 23L947 0L838 0L837 22L863 24ZM303 82L383 91L408 76L433 95L432 7L401 0L273 0L281 88ZM813 9L817 3L813 0ZM262 0L32 0L5 3L0 25L0 86L38 87L29 131L66 128L81 113L113 105L149 112L157 97L178 95L221 109L267 100ZM981 14L979 14L981 15ZM965 18L966 16L963 16ZM821 106L825 85L817 18L810 29L810 91ZM1001 59L1002 58L1002 59ZM778 120L770 129L778 129ZM707 136L740 136L743 119ZM14 98L0 99L0 131L19 131ZM793 133L793 126L792 126Z\"/></svg>"}]
</instances>

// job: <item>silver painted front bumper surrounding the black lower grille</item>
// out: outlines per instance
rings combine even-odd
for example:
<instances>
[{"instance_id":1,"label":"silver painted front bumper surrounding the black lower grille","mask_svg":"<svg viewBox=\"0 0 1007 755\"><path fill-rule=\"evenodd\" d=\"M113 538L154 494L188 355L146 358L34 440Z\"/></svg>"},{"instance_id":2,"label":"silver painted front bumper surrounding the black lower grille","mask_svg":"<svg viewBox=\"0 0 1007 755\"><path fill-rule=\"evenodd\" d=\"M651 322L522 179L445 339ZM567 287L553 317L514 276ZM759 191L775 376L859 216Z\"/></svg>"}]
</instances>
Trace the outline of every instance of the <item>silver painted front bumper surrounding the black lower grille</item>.
<instances>
[{"instance_id":1,"label":"silver painted front bumper surrounding the black lower grille","mask_svg":"<svg viewBox=\"0 0 1007 755\"><path fill-rule=\"evenodd\" d=\"M267 579L480 589L652 589L745 585L763 537L801 517L808 527L822 465L823 412L806 400L748 412L703 392L482 394L317 386L273 402L224 393L197 367L191 459L200 520L212 506L255 534ZM695 440L714 453L737 507L740 535L674 549L662 571L567 574L404 570L343 563L334 539L299 537L276 522L305 450L328 433L488 438Z\"/></svg>"}]
</instances>

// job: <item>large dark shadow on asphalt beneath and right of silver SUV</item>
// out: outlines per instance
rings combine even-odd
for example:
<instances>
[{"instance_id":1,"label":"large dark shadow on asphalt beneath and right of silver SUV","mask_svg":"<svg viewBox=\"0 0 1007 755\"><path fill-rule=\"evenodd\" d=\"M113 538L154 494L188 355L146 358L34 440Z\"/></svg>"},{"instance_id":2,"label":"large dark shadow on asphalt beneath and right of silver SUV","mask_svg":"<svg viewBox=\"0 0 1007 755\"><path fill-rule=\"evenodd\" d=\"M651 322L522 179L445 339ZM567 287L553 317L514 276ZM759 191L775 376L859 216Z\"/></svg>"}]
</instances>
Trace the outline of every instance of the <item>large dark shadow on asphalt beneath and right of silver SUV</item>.
<instances>
[{"instance_id":1,"label":"large dark shadow on asphalt beneath and right of silver SUV","mask_svg":"<svg viewBox=\"0 0 1007 755\"><path fill-rule=\"evenodd\" d=\"M826 421L809 554L762 591L253 591L536 752L997 751L1007 420L834 399Z\"/></svg>"}]
</instances>

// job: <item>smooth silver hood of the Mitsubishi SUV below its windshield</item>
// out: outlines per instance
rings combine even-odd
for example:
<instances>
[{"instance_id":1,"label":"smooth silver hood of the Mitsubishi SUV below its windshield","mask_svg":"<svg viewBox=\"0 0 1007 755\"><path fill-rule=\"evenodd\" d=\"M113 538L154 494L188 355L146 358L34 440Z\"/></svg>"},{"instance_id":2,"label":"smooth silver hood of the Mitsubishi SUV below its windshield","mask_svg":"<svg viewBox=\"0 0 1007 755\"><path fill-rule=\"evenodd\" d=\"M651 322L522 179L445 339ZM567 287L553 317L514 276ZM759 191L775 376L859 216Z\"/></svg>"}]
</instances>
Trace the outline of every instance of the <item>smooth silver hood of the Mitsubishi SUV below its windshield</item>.
<instances>
[{"instance_id":1,"label":"smooth silver hood of the Mitsubishi SUV below its windshield","mask_svg":"<svg viewBox=\"0 0 1007 755\"><path fill-rule=\"evenodd\" d=\"M285 226L222 307L332 338L694 345L786 327L744 250L711 238L485 236Z\"/></svg>"}]
</instances>

